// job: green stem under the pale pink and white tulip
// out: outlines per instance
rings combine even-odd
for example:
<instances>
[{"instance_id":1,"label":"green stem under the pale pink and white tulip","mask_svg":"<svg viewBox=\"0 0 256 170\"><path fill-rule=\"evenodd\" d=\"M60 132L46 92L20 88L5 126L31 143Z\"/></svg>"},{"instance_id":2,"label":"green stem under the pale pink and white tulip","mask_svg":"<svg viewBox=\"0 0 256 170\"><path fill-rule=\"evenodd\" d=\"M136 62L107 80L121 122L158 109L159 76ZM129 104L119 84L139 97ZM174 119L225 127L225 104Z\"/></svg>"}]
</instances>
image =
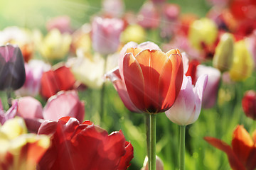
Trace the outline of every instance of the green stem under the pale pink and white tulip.
<instances>
[{"instance_id":1,"label":"green stem under the pale pink and white tulip","mask_svg":"<svg viewBox=\"0 0 256 170\"><path fill-rule=\"evenodd\" d=\"M180 125L180 170L185 169L185 132L186 132L186 125Z\"/></svg>"}]
</instances>

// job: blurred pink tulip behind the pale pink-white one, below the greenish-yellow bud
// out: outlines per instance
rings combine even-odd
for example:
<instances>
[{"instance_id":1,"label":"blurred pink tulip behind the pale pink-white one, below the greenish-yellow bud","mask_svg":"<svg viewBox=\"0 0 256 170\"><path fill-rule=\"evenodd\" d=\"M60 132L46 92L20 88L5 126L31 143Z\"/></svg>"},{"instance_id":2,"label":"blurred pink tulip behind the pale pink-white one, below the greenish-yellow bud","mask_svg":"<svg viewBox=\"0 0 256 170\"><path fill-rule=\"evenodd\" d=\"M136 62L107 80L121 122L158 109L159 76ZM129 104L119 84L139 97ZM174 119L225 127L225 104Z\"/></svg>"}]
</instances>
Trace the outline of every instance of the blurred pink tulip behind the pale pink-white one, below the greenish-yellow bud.
<instances>
[{"instance_id":1,"label":"blurred pink tulip behind the pale pink-white one, below the greenish-yellow bud","mask_svg":"<svg viewBox=\"0 0 256 170\"><path fill-rule=\"evenodd\" d=\"M212 108L217 101L218 86L220 83L220 71L213 67L198 65L196 77L208 74L208 83L203 94L203 108Z\"/></svg>"}]
</instances>

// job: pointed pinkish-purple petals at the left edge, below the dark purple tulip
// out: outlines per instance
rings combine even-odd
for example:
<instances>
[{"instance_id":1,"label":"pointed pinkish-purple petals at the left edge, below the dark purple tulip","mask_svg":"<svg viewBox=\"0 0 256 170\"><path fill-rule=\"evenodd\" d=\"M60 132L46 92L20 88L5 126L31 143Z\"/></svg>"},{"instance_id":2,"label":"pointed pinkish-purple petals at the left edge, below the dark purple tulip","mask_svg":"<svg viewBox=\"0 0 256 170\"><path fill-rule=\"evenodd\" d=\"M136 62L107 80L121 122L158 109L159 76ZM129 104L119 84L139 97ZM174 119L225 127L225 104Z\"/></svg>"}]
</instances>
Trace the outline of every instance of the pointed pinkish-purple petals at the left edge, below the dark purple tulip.
<instances>
[{"instance_id":1,"label":"pointed pinkish-purple petals at the left edge, below the dark purple tulip","mask_svg":"<svg viewBox=\"0 0 256 170\"><path fill-rule=\"evenodd\" d=\"M1 123L1 125L4 125L6 120L14 118L14 116L17 113L17 108L18 108L18 104L14 103L11 106L11 108L9 108L9 110L6 111L6 113L5 113L2 103L1 103L1 100L0 100L0 123Z\"/></svg>"}]
</instances>

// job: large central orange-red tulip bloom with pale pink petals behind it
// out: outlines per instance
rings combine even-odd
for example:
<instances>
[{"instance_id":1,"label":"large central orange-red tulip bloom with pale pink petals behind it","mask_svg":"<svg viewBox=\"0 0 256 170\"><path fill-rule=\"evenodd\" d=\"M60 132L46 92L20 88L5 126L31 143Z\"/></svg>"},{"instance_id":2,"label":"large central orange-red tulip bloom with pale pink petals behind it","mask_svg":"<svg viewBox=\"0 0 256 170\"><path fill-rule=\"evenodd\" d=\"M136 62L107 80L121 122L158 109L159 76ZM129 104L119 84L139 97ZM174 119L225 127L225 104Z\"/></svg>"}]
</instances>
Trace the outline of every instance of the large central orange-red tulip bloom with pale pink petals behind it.
<instances>
[{"instance_id":1,"label":"large central orange-red tulip bloom with pale pink petals behind it","mask_svg":"<svg viewBox=\"0 0 256 170\"><path fill-rule=\"evenodd\" d=\"M181 52L173 49L164 53L153 42L140 45L129 42L120 52L119 68L107 77L132 111L151 114L166 111L181 89Z\"/></svg>"}]
</instances>

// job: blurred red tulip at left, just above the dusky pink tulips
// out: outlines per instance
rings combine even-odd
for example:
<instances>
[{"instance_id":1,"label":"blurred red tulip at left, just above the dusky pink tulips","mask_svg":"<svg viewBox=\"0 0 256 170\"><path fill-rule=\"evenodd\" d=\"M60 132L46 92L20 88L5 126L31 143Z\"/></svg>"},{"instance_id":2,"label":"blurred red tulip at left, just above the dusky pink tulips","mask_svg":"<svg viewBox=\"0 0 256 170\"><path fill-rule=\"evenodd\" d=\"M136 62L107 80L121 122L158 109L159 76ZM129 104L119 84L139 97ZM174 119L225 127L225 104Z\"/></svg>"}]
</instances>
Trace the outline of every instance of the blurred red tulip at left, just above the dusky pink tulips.
<instances>
[{"instance_id":1,"label":"blurred red tulip at left, just above the dusky pink tulips","mask_svg":"<svg viewBox=\"0 0 256 170\"><path fill-rule=\"evenodd\" d=\"M41 78L41 95L50 98L58 91L68 91L73 89L75 77L69 67L59 67L55 70L44 72Z\"/></svg>"}]
</instances>

